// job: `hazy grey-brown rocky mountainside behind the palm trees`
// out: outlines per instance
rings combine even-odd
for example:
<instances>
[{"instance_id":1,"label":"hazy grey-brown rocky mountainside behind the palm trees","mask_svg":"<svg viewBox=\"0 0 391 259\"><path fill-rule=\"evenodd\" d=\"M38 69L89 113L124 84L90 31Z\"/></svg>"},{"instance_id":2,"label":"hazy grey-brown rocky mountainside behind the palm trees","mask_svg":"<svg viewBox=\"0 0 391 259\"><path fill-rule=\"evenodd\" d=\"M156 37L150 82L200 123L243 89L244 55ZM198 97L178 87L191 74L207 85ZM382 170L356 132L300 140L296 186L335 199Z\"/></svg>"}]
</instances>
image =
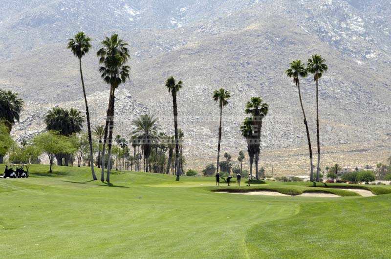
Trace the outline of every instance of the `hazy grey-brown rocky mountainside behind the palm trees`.
<instances>
[{"instance_id":1,"label":"hazy grey-brown rocky mountainside behind the palm trees","mask_svg":"<svg viewBox=\"0 0 391 259\"><path fill-rule=\"evenodd\" d=\"M211 94L224 87L233 97L224 110L223 150L237 153L245 148L239 132L244 104L251 96L262 96L270 105L262 161L274 162L280 171L305 172L305 162L297 162L305 160L306 144L297 91L283 72L291 60L306 60L314 53L329 66L320 82L324 164L375 163L389 150L389 0L2 4L0 87L20 92L27 101L15 135L42 131L40 120L52 106L83 109L78 63L65 48L66 40L83 30L94 39L94 49L84 59L94 123L104 120L108 89L98 74L95 52L104 36L118 33L130 43L132 68L131 80L117 93L118 133L128 134L132 118L145 112L159 118L162 131L172 131L172 103L164 81L174 75L185 82L178 105L189 166L204 164L216 152L218 110ZM314 134L314 83L309 77L302 84ZM341 144L344 151L334 156ZM357 145L362 152L356 152ZM368 155L375 146L380 157ZM295 155L287 159L287 153Z\"/></svg>"}]
</instances>

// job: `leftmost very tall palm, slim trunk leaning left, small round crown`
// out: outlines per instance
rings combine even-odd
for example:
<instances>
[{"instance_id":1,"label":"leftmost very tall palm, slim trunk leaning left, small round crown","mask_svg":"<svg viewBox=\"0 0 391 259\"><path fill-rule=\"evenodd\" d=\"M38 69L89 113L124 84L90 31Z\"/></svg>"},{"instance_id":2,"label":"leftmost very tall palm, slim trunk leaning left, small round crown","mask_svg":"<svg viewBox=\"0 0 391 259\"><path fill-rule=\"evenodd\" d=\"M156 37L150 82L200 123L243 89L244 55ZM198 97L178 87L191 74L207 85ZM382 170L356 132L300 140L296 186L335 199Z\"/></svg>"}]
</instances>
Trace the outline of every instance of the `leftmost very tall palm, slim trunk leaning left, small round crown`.
<instances>
[{"instance_id":1,"label":"leftmost very tall palm, slim trunk leaning left, small round crown","mask_svg":"<svg viewBox=\"0 0 391 259\"><path fill-rule=\"evenodd\" d=\"M80 78L82 80L84 101L86 103L87 130L88 130L88 141L89 141L89 159L90 159L90 164L91 164L91 173L92 173L92 179L97 180L96 175L95 175L95 171L94 171L94 157L93 157L93 150L92 150L91 123L89 120L89 110L88 110L88 103L87 103L86 87L84 85L83 70L82 70L82 58L89 52L89 49L91 48L90 41L91 41L91 39L89 37L87 37L84 34L84 32L78 32L75 35L75 38L68 40L67 48L70 49L72 51L73 55L79 59Z\"/></svg>"}]
</instances>

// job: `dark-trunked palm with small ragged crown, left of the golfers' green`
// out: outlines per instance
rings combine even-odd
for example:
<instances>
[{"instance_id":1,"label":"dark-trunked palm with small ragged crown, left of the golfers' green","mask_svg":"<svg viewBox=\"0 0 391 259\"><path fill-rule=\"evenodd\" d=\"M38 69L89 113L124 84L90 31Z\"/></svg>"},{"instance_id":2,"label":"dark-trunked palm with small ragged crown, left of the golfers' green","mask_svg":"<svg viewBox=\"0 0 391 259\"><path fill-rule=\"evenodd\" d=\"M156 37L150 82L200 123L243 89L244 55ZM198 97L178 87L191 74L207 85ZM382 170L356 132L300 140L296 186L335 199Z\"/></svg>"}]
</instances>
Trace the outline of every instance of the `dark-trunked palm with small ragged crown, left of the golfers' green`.
<instances>
[{"instance_id":1,"label":"dark-trunked palm with small ragged crown, left of the golfers' green","mask_svg":"<svg viewBox=\"0 0 391 259\"><path fill-rule=\"evenodd\" d=\"M170 77L166 81L166 87L169 93L173 96L173 110L174 110L174 131L175 131L175 175L176 180L179 181L179 136L178 136L178 106L176 104L176 94L182 88L182 81L175 82L174 77Z\"/></svg>"}]
</instances>

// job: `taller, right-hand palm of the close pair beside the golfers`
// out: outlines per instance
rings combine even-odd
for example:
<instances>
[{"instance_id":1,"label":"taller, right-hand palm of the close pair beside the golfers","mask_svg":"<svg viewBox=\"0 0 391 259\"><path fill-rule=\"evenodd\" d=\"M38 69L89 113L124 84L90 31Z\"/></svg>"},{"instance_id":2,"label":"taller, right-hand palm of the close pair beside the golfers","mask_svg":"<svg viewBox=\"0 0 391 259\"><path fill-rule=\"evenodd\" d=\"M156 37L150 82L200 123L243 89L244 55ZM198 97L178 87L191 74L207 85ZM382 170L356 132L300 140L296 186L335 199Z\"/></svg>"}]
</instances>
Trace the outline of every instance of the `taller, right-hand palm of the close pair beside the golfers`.
<instances>
[{"instance_id":1,"label":"taller, right-hand palm of the close pair beside the golfers","mask_svg":"<svg viewBox=\"0 0 391 259\"><path fill-rule=\"evenodd\" d=\"M261 146L262 120L267 115L268 111L269 111L269 105L263 102L261 97L252 97L251 100L246 103L246 108L244 110L246 114L252 115L253 118L253 130L256 137L255 178L257 180L259 179L258 161L259 161L260 146Z\"/></svg>"}]
</instances>

